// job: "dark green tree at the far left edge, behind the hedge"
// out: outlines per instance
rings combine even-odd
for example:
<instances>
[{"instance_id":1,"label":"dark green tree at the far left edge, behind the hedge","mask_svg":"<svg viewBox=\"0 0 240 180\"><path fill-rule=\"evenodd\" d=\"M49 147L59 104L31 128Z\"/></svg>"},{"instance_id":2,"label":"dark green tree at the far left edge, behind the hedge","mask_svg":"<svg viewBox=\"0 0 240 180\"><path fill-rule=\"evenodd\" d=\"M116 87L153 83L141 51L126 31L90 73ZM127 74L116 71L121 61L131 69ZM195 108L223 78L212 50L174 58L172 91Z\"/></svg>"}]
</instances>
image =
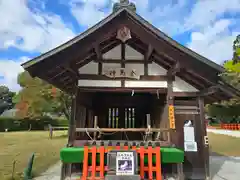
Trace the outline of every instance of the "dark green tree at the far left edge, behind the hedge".
<instances>
[{"instance_id":1,"label":"dark green tree at the far left edge, behind the hedge","mask_svg":"<svg viewBox=\"0 0 240 180\"><path fill-rule=\"evenodd\" d=\"M11 92L8 87L0 86L0 115L8 109L12 109L13 104L13 97L15 93Z\"/></svg>"}]
</instances>

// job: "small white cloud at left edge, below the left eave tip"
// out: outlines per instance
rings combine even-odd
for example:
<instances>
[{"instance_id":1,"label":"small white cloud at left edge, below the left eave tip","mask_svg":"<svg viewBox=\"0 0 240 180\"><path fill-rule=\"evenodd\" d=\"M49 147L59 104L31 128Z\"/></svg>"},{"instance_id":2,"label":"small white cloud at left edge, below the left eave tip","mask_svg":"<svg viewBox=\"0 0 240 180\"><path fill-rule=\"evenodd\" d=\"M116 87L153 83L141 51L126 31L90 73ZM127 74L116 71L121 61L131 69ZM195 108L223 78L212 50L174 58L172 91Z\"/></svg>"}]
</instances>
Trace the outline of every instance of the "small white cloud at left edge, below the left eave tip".
<instances>
[{"instance_id":1,"label":"small white cloud at left edge, below the left eave tip","mask_svg":"<svg viewBox=\"0 0 240 180\"><path fill-rule=\"evenodd\" d=\"M28 57L21 57L18 60L0 59L0 85L7 86L12 91L19 91L20 86L17 84L17 76L23 72L22 64L29 60Z\"/></svg>"}]
</instances>

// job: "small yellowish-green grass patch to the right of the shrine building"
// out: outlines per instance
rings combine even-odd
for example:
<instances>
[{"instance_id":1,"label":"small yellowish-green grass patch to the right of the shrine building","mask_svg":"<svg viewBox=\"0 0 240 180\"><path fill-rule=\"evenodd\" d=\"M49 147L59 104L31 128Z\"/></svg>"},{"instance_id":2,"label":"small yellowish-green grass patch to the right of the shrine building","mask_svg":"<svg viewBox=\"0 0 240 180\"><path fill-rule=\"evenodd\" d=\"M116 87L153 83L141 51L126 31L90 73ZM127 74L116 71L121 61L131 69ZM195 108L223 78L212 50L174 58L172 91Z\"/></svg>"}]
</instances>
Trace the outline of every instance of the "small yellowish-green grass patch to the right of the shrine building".
<instances>
[{"instance_id":1,"label":"small yellowish-green grass patch to the right of the shrine building","mask_svg":"<svg viewBox=\"0 0 240 180\"><path fill-rule=\"evenodd\" d=\"M208 133L210 151L219 155L240 157L240 138Z\"/></svg>"}]
</instances>

